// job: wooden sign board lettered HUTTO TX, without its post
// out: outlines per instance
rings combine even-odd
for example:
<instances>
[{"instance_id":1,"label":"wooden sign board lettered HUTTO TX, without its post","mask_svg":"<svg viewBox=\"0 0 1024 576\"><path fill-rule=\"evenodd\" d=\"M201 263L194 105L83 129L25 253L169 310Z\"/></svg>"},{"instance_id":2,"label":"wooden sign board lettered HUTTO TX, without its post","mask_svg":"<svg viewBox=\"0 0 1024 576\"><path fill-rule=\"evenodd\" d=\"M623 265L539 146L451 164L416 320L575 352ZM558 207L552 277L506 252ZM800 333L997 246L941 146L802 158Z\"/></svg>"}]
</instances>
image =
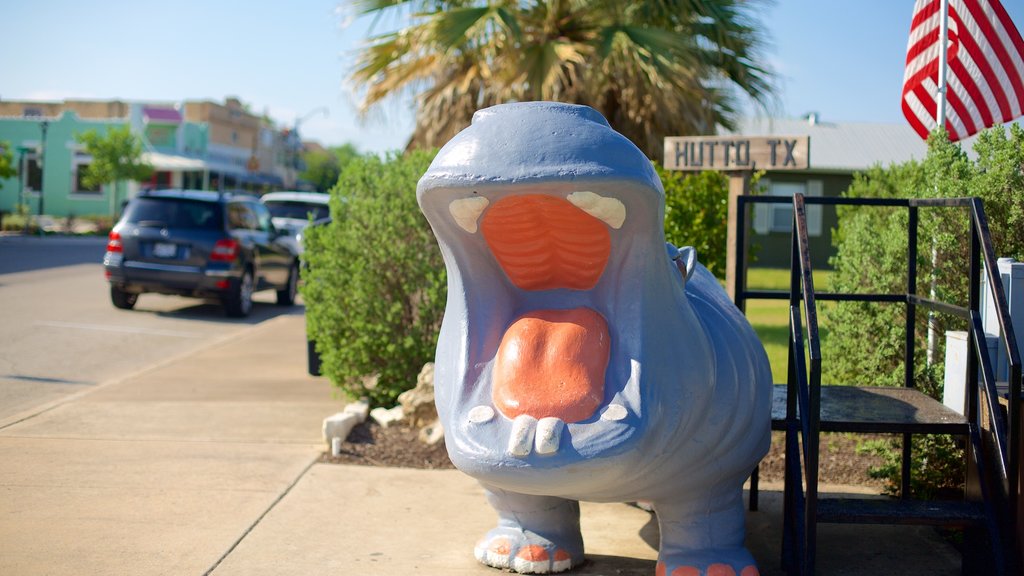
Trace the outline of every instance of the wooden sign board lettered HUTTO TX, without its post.
<instances>
[{"instance_id":1,"label":"wooden sign board lettered HUTTO TX, without its post","mask_svg":"<svg viewBox=\"0 0 1024 576\"><path fill-rule=\"evenodd\" d=\"M668 170L806 170L810 136L670 136Z\"/></svg>"}]
</instances>

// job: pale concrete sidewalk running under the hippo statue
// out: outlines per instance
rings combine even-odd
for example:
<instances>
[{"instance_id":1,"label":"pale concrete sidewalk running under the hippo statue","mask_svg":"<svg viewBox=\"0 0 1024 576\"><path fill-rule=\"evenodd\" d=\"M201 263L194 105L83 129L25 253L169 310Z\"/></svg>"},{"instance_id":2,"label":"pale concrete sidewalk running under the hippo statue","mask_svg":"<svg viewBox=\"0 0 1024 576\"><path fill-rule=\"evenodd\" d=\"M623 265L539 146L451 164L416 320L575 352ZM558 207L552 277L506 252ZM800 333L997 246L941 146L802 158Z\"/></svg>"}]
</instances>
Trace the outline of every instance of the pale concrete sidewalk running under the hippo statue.
<instances>
[{"instance_id":1,"label":"pale concrete sidewalk running under the hippo statue","mask_svg":"<svg viewBox=\"0 0 1024 576\"><path fill-rule=\"evenodd\" d=\"M496 575L472 546L496 517L454 470L315 463L343 406L306 374L304 319L111 382L0 428L0 574ZM781 494L748 516L763 575L781 574ZM574 574L651 575L656 523L584 504ZM822 526L820 574L955 575L934 531Z\"/></svg>"}]
</instances>

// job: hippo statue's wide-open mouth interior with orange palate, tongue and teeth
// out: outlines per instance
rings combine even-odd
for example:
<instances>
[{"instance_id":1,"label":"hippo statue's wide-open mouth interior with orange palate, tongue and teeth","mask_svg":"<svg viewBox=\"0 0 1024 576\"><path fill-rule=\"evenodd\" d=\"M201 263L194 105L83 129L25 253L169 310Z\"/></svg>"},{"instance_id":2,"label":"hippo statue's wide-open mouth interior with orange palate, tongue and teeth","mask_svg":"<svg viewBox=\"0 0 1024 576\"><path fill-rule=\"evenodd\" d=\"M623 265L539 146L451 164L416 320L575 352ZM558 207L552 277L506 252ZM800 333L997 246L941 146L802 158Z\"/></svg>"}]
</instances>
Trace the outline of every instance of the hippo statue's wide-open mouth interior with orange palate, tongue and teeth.
<instances>
[{"instance_id":1,"label":"hippo statue's wide-open mouth interior with orange palate, tongue and teeth","mask_svg":"<svg viewBox=\"0 0 1024 576\"><path fill-rule=\"evenodd\" d=\"M447 210L460 233L475 237L475 261L462 266L483 273L482 260L494 271L490 282L465 287L471 302L486 292L485 314L469 315L485 326L469 329L489 334L456 410L471 407L468 442L490 426L505 456L518 459L617 444L640 413L639 351L622 334L635 323L629 302L641 296L615 278L631 268L626 205L586 191L493 196L456 199ZM664 249L660 256L668 261Z\"/></svg>"}]
</instances>

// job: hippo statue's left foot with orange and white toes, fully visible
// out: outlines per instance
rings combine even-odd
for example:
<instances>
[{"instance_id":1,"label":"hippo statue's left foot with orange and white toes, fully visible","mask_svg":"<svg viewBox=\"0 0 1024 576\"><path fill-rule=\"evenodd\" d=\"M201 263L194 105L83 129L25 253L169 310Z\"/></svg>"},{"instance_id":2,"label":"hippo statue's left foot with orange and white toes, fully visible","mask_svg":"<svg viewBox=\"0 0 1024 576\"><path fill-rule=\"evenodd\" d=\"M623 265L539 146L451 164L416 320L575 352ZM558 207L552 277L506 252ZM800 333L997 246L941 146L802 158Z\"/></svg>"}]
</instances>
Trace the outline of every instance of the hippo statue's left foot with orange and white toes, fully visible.
<instances>
[{"instance_id":1,"label":"hippo statue's left foot with orange and white toes, fully visible","mask_svg":"<svg viewBox=\"0 0 1024 576\"><path fill-rule=\"evenodd\" d=\"M477 562L520 574L553 574L583 562L557 542L528 530L496 528L473 548Z\"/></svg>"}]
</instances>

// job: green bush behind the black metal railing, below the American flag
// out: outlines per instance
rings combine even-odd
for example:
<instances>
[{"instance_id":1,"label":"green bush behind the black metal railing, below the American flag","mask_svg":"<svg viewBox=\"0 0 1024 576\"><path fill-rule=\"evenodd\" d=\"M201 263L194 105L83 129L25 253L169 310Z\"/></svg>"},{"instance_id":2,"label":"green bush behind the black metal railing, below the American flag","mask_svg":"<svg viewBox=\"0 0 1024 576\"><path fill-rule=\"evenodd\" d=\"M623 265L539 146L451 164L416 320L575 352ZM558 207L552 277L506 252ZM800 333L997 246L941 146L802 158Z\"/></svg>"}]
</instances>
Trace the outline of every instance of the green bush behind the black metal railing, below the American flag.
<instances>
[{"instance_id":1,"label":"green bush behind the black metal railing, below the American flag","mask_svg":"<svg viewBox=\"0 0 1024 576\"><path fill-rule=\"evenodd\" d=\"M847 191L857 198L954 198L977 196L984 201L996 256L1024 256L1024 128L986 130L977 139L976 160L942 132L929 138L924 162L858 174ZM842 207L840 228L833 236L837 255L831 288L837 292L899 293L906 287L905 209ZM934 291L936 299L966 305L968 301L968 213L964 209L921 211L918 241L918 292ZM840 302L821 310L823 381L864 385L902 385L904 307L898 304ZM928 364L928 322L919 312L914 354L914 385L933 398L942 397L944 332L964 330L954 317L932 318L938 337ZM870 344L866 342L870 341ZM886 446L888 445L888 448ZM872 470L899 486L900 441L874 443L871 450L886 462ZM927 497L964 479L963 451L949 437L915 436L912 444L911 491Z\"/></svg>"}]
</instances>

